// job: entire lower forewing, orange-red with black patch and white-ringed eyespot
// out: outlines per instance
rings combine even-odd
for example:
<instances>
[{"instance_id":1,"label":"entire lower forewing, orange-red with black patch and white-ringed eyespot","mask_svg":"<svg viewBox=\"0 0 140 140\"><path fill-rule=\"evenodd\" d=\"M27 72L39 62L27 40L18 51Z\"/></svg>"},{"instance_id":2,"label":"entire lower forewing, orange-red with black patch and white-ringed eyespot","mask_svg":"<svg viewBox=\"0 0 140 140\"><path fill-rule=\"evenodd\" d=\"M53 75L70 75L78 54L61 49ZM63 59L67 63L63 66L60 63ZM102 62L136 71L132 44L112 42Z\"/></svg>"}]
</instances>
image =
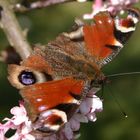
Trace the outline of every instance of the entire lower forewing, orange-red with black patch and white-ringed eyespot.
<instances>
[{"instance_id":1,"label":"entire lower forewing, orange-red with black patch and white-ringed eyespot","mask_svg":"<svg viewBox=\"0 0 140 140\"><path fill-rule=\"evenodd\" d=\"M77 110L84 86L82 80L66 78L22 89L20 93L34 127L46 134L58 131Z\"/></svg>"}]
</instances>

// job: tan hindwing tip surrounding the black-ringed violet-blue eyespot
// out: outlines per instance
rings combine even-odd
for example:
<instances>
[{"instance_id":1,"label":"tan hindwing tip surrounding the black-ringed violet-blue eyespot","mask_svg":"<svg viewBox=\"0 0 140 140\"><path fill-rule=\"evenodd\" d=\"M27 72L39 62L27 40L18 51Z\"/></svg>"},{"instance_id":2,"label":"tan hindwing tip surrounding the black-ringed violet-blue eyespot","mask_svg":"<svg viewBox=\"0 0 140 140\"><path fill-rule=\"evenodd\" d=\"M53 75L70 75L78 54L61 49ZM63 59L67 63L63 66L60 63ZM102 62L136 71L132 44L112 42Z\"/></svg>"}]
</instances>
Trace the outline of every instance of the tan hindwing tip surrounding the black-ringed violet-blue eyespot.
<instances>
[{"instance_id":1,"label":"tan hindwing tip surrounding the black-ringed violet-blue eyespot","mask_svg":"<svg viewBox=\"0 0 140 140\"><path fill-rule=\"evenodd\" d=\"M10 83L18 89L51 80L49 79L51 78L51 76L49 76L47 73L44 74L30 67L24 67L14 64L8 66L8 72L8 79ZM48 77L46 75L48 75Z\"/></svg>"}]
</instances>

